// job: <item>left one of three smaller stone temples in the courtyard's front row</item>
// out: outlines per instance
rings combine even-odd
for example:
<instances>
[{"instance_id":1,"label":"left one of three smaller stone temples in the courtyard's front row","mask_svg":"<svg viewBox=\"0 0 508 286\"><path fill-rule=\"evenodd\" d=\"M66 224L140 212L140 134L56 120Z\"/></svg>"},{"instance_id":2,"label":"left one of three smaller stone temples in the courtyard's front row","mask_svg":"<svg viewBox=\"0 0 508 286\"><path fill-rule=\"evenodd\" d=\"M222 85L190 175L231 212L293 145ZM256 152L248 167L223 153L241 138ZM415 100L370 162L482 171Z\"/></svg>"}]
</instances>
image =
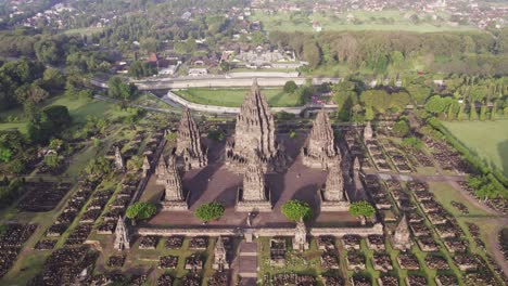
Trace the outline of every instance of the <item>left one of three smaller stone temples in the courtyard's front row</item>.
<instances>
[{"instance_id":1,"label":"left one of three smaller stone temples in the courtyard's front row","mask_svg":"<svg viewBox=\"0 0 508 286\"><path fill-rule=\"evenodd\" d=\"M170 156L167 164L161 157L157 166L157 184L164 185L163 210L187 210L187 197L183 193L180 174L176 166L175 156Z\"/></svg>"}]
</instances>

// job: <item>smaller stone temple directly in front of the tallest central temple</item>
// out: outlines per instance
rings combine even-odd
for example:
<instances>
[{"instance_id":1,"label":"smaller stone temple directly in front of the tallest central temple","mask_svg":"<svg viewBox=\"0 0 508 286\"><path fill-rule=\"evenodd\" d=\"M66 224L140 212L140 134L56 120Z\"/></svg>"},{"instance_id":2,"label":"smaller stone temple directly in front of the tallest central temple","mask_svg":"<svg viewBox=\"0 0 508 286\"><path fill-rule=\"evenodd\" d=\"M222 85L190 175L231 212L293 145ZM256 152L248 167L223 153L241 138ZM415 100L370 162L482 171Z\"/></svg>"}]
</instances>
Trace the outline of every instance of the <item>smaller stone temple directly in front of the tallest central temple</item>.
<instances>
[{"instance_id":1,"label":"smaller stone temple directly in front of the tallest central temple","mask_svg":"<svg viewBox=\"0 0 508 286\"><path fill-rule=\"evenodd\" d=\"M254 154L255 151L252 151ZM271 211L270 191L265 184L265 172L258 156L252 155L243 174L243 186L238 190L237 211Z\"/></svg>"}]
</instances>

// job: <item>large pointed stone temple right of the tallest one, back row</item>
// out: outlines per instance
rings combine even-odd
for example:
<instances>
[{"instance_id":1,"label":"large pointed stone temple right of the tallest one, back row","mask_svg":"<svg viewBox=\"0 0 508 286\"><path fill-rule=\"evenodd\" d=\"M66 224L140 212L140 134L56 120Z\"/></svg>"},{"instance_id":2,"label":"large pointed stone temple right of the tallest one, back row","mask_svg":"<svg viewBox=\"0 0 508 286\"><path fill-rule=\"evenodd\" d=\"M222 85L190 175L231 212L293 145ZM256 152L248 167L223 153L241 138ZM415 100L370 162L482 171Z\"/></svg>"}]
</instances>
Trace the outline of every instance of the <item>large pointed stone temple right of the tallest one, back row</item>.
<instances>
[{"instance_id":1,"label":"large pointed stone temple right of the tallest one, back row","mask_svg":"<svg viewBox=\"0 0 508 286\"><path fill-rule=\"evenodd\" d=\"M320 110L316 116L307 142L302 148L302 159L305 166L322 170L341 162L333 129L325 110Z\"/></svg>"}]
</instances>

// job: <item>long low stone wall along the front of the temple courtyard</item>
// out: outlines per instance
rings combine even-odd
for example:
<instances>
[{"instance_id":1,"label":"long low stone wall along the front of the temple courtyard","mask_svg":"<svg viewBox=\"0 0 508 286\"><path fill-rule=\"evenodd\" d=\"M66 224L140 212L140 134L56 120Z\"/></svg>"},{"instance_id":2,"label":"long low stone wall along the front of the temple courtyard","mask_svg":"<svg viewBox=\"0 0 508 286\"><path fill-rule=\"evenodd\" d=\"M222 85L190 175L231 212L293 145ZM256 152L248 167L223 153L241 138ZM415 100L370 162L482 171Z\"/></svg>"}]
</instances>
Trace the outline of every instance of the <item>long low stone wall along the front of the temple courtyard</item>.
<instances>
[{"instance_id":1,"label":"long low stone wall along the front of the temple courtyard","mask_svg":"<svg viewBox=\"0 0 508 286\"><path fill-rule=\"evenodd\" d=\"M371 234L383 234L383 225L377 223L371 227L310 227L308 233L312 236L332 235L342 237L346 234L356 234L366 237ZM243 236L244 234L252 234L255 237L259 236L294 236L294 227L186 227L186 229L162 229L162 227L141 227L138 234L157 235L157 236Z\"/></svg>"}]
</instances>

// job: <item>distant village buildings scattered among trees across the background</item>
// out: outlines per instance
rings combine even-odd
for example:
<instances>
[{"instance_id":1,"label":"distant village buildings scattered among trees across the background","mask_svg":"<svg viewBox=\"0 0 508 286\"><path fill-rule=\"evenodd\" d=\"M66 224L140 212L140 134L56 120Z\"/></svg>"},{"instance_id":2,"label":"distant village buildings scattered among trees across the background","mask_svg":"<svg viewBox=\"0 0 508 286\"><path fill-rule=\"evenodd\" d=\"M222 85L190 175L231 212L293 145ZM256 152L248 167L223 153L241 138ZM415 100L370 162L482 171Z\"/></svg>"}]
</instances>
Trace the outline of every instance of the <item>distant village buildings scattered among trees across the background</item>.
<instances>
[{"instance_id":1,"label":"distant village buildings scattered among trees across the background","mask_svg":"<svg viewBox=\"0 0 508 286\"><path fill-rule=\"evenodd\" d=\"M25 13L22 6L27 6L34 0L11 0L11 9L9 17L15 17ZM76 28L76 22L79 16L82 16L82 11L76 6L77 1L62 1L51 8L35 13L33 16L25 18L21 26L26 27L51 27L59 30L68 30ZM231 40L226 44L220 44L213 51L207 48L206 39L195 39L198 47L196 53L176 53L176 41L165 41L164 49L155 52L137 52L135 58L132 56L124 56L113 65L113 72L117 74L127 74L129 66L134 61L143 61L150 64L155 70L154 76L174 77L189 76L202 77L211 74L224 74L230 72L249 72L249 70L271 70L293 73L299 72L299 68L304 67L307 63L304 58L299 58L294 51L281 49L279 47L270 47L270 44L255 44L251 41L254 32L262 30L263 23L255 21L252 17L253 13L261 12L265 14L281 13L281 12L302 12L307 13L346 13L347 22L354 23L355 16L352 14L355 11L384 11L398 10L407 11L408 14L415 12L426 13L439 17L440 13L446 12L449 14L447 24L449 25L474 25L481 29L503 28L507 24L508 4L486 4L480 1L463 1L463 0L436 0L436 1L386 1L386 0L327 0L327 1L272 1L272 0L253 0L250 5L244 8L232 6L229 10L223 11L224 17L231 20L234 23L234 30ZM193 23L198 15L207 15L207 8L190 8L181 14L172 15L173 18L179 21L175 25L186 25ZM350 13L351 12L351 13ZM118 12L104 11L100 15L88 15L88 21L91 22L88 29L100 30L117 18ZM4 21L3 18L1 21ZM316 32L326 30L327 27L321 26L318 21L312 22L312 27ZM187 39L188 40L188 39ZM187 40L179 40L186 42ZM193 39L194 40L194 39ZM246 44L245 42L249 42ZM98 43L96 43L98 46ZM135 40L132 47L140 47L140 42ZM138 49L139 50L139 49Z\"/></svg>"}]
</instances>

